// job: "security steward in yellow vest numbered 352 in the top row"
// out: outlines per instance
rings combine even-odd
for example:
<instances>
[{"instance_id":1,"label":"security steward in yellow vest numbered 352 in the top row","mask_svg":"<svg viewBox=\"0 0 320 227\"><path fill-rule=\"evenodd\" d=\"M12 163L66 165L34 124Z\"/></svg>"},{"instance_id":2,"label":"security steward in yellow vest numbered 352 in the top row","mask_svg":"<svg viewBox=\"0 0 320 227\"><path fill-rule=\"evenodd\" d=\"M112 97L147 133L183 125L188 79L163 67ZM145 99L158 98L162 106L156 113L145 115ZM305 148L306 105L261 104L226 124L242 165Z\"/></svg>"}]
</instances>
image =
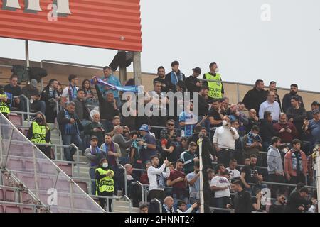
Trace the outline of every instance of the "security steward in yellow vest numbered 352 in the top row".
<instances>
[{"instance_id":1,"label":"security steward in yellow vest numbered 352 in the top row","mask_svg":"<svg viewBox=\"0 0 320 227\"><path fill-rule=\"evenodd\" d=\"M218 65L217 63L213 62L210 63L210 72L203 74L203 79L207 80L218 80L221 81L221 75L218 74ZM223 89L223 84L221 82L207 82L204 81L203 85L206 85L209 87L209 98L210 99L221 99L223 98L223 94L225 94L225 91Z\"/></svg>"}]
</instances>

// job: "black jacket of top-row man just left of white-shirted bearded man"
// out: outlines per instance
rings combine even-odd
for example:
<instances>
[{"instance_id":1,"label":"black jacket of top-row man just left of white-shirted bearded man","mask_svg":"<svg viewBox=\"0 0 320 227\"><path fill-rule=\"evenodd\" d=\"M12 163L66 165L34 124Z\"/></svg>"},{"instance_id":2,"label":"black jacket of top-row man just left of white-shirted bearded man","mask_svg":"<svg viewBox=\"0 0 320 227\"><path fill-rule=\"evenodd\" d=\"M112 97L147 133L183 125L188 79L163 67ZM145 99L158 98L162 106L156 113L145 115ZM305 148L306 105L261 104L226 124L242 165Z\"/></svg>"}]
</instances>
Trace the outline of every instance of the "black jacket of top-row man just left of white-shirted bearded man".
<instances>
[{"instance_id":1,"label":"black jacket of top-row man just left of white-shirted bearded man","mask_svg":"<svg viewBox=\"0 0 320 227\"><path fill-rule=\"evenodd\" d=\"M267 92L265 90L259 91L255 87L248 91L243 98L243 103L247 110L255 109L259 113L260 105L267 100Z\"/></svg>"}]
</instances>

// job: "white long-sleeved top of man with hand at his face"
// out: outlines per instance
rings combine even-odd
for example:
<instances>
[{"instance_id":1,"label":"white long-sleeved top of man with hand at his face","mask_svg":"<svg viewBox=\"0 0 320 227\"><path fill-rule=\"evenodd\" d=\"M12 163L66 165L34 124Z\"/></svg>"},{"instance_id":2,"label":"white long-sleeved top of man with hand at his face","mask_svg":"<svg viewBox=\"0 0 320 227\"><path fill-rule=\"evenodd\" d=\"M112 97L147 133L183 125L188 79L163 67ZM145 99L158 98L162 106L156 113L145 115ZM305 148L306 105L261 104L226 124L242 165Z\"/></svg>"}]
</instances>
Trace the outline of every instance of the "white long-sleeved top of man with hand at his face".
<instances>
[{"instance_id":1,"label":"white long-sleeved top of man with hand at his face","mask_svg":"<svg viewBox=\"0 0 320 227\"><path fill-rule=\"evenodd\" d=\"M235 140L238 140L239 134L235 128L231 127L231 130L235 132L235 135L230 132L228 126L217 128L213 136L213 143L217 143L218 148L235 150Z\"/></svg>"}]
</instances>

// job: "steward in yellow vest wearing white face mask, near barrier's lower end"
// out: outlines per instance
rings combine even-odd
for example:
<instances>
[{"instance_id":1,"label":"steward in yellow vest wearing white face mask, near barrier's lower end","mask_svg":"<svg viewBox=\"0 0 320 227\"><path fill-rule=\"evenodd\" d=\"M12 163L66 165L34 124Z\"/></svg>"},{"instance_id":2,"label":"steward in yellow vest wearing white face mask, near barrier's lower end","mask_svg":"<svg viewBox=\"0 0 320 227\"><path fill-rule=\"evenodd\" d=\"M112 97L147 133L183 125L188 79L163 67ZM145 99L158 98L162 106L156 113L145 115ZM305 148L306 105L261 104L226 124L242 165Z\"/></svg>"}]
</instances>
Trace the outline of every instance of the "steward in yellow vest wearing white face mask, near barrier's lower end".
<instances>
[{"instance_id":1,"label":"steward in yellow vest wearing white face mask, near barrier's lower end","mask_svg":"<svg viewBox=\"0 0 320 227\"><path fill-rule=\"evenodd\" d=\"M96 180L96 196L114 196L114 172L110 170L106 158L102 158L99 162L97 170L95 170ZM100 206L106 210L107 199L99 198ZM109 212L111 212L112 199L108 199Z\"/></svg>"}]
</instances>

